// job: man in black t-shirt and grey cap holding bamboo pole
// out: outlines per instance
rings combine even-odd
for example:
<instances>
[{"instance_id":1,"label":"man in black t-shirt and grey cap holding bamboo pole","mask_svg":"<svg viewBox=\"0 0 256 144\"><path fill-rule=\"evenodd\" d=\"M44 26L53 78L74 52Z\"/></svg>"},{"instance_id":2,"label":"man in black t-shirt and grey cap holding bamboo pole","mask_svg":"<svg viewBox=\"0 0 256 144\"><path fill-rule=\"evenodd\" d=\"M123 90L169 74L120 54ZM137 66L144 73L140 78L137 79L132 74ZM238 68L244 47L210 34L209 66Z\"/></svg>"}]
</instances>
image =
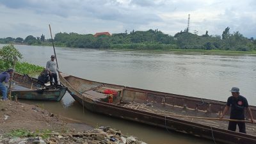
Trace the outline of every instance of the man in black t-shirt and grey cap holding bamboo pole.
<instances>
[{"instance_id":1,"label":"man in black t-shirt and grey cap holding bamboo pole","mask_svg":"<svg viewBox=\"0 0 256 144\"><path fill-rule=\"evenodd\" d=\"M245 97L240 95L239 88L233 87L230 92L232 93L232 96L228 97L227 100L227 106L225 107L222 115L220 118L223 118L223 116L227 113L229 107L231 106L230 111L230 119L234 120L244 120L244 108L247 109L248 114L251 118L251 122L254 123L252 111L249 108L248 102ZM239 127L239 132L246 133L245 129L245 123L244 122L233 122L230 121L228 124L228 130L230 131L236 131L236 125Z\"/></svg>"}]
</instances>

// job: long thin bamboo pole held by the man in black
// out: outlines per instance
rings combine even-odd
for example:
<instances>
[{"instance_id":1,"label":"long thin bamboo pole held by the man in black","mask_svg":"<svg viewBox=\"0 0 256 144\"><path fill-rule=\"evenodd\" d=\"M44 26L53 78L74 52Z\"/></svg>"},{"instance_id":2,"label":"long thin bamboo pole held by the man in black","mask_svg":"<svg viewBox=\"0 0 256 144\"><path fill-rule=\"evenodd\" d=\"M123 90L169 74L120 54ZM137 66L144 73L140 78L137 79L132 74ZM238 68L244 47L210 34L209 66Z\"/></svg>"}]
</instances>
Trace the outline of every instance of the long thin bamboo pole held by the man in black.
<instances>
[{"instance_id":1,"label":"long thin bamboo pole held by the man in black","mask_svg":"<svg viewBox=\"0 0 256 144\"><path fill-rule=\"evenodd\" d=\"M205 117L198 117L198 116L185 116L185 115L166 115L164 113L159 113L159 115L164 115L164 116L178 116L178 117L183 117L183 118L197 118L197 119L204 119L204 120L224 120L224 121L231 121L231 122L246 122L246 123L252 123L250 120L234 120L234 119L228 119L228 118L205 118ZM255 122L254 122L255 123Z\"/></svg>"}]
</instances>

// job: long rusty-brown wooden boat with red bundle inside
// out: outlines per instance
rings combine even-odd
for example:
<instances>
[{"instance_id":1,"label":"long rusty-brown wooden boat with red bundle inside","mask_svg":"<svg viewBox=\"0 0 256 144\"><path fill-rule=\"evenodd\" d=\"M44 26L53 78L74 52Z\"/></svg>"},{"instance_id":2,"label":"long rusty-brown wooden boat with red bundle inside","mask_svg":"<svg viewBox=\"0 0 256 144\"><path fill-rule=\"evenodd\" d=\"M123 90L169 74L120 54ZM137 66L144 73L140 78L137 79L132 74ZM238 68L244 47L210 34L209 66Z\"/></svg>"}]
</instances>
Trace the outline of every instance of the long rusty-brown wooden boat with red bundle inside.
<instances>
[{"instance_id":1,"label":"long rusty-brown wooden boat with red bundle inside","mask_svg":"<svg viewBox=\"0 0 256 144\"><path fill-rule=\"evenodd\" d=\"M246 123L247 134L244 134L228 131L228 121L218 118L226 102L99 83L63 73L60 73L60 81L77 102L95 113L184 132L218 143L256 143L256 124ZM256 107L250 108L256 118Z\"/></svg>"}]
</instances>

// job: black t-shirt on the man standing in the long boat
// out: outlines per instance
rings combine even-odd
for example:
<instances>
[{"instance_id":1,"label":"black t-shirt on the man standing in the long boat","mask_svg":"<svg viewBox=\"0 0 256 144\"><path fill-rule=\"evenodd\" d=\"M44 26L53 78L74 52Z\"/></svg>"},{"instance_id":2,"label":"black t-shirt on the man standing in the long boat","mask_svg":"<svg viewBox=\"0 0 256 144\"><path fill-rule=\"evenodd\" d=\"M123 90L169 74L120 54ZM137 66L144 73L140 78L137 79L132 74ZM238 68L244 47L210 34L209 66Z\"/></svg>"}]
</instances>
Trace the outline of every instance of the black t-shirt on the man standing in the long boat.
<instances>
[{"instance_id":1,"label":"black t-shirt on the man standing in the long boat","mask_svg":"<svg viewBox=\"0 0 256 144\"><path fill-rule=\"evenodd\" d=\"M239 95L235 98L228 97L227 106L231 106L230 119L244 120L244 108L248 108L248 102L245 97Z\"/></svg>"}]
</instances>

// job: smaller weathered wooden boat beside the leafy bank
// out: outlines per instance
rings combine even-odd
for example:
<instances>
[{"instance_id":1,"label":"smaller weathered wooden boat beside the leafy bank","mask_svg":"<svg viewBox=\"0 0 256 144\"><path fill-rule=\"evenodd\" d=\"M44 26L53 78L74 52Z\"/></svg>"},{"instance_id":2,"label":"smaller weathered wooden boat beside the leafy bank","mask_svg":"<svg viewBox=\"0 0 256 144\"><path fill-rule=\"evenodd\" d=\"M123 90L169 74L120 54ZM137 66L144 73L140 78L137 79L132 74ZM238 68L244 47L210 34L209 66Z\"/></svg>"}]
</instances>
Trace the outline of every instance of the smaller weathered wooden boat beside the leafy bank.
<instances>
[{"instance_id":1,"label":"smaller weathered wooden boat beside the leafy bank","mask_svg":"<svg viewBox=\"0 0 256 144\"><path fill-rule=\"evenodd\" d=\"M60 101L67 91L65 86L43 86L36 78L16 72L13 80L22 86L12 90L12 96L17 96L18 99Z\"/></svg>"}]
</instances>

